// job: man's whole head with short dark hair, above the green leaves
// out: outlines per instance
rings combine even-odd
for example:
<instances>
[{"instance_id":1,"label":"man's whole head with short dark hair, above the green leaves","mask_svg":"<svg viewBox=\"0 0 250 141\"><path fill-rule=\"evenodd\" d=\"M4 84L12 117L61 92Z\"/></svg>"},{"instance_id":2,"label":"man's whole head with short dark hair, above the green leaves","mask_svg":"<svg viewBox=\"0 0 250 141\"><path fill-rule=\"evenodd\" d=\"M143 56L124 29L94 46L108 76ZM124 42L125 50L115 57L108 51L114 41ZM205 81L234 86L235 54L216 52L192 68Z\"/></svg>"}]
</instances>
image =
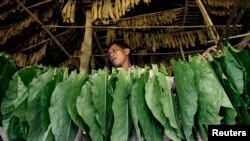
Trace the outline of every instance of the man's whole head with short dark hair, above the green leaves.
<instances>
[{"instance_id":1,"label":"man's whole head with short dark hair, above the green leaves","mask_svg":"<svg viewBox=\"0 0 250 141\"><path fill-rule=\"evenodd\" d=\"M109 60L116 67L128 69L131 64L129 60L130 49L128 45L121 41L113 42L109 45L108 56Z\"/></svg>"}]
</instances>

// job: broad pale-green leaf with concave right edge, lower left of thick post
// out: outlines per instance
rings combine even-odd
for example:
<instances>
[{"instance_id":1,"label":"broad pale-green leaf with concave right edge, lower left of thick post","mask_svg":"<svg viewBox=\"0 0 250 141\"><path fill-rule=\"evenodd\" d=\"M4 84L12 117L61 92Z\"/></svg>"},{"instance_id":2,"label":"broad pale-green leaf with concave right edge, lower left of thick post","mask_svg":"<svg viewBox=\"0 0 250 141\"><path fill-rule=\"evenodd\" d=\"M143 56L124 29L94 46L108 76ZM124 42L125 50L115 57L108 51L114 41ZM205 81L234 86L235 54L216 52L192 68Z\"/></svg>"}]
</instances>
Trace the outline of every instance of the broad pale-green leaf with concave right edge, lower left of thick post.
<instances>
[{"instance_id":1,"label":"broad pale-green leaf with concave right edge, lower left of thick post","mask_svg":"<svg viewBox=\"0 0 250 141\"><path fill-rule=\"evenodd\" d=\"M78 131L68 113L66 102L71 89L71 77L58 83L51 96L49 116L55 141L72 141Z\"/></svg>"}]
</instances>

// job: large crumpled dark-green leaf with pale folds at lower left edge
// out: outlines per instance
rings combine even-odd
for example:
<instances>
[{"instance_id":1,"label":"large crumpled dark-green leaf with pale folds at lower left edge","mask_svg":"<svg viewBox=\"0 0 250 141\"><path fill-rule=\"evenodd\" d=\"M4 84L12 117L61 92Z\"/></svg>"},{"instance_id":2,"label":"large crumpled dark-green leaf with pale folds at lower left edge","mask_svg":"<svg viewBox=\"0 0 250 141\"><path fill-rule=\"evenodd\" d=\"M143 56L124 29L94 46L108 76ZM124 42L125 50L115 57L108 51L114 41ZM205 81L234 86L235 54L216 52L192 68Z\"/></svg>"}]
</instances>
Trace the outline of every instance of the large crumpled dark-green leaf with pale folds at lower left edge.
<instances>
[{"instance_id":1,"label":"large crumpled dark-green leaf with pale folds at lower left edge","mask_svg":"<svg viewBox=\"0 0 250 141\"><path fill-rule=\"evenodd\" d=\"M27 91L30 82L37 74L37 70L35 67L22 68L13 75L10 81L10 87L6 91L6 97L2 102L3 107L1 109L4 116L4 128L9 140L15 140L14 138L17 136L20 136L18 138L27 138L28 123L24 114L27 109ZM9 127L9 125L15 128Z\"/></svg>"}]
</instances>

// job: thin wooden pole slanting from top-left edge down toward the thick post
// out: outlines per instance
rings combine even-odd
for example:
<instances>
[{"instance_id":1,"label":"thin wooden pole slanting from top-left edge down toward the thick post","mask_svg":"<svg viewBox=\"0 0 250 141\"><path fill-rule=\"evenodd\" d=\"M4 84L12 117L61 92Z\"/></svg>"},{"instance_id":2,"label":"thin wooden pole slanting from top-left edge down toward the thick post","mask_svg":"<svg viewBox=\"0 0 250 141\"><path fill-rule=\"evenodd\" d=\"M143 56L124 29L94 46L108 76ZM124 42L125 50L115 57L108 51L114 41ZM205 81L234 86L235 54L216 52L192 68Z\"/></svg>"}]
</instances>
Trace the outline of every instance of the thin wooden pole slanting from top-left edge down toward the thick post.
<instances>
[{"instance_id":1,"label":"thin wooden pole slanting from top-left edge down toward the thick post","mask_svg":"<svg viewBox=\"0 0 250 141\"><path fill-rule=\"evenodd\" d=\"M23 3L21 3L19 0L16 0L16 2L26 11L30 14L30 16L32 16L41 26L42 28L51 36L51 38L55 41L55 43L59 46L59 48L66 54L66 56L68 56L70 59L72 59L72 57L70 56L70 54L66 51L66 49L62 46L62 44L56 39L56 37L50 32L50 30L44 26L44 24L27 8L25 7L25 5L23 5Z\"/></svg>"}]
</instances>

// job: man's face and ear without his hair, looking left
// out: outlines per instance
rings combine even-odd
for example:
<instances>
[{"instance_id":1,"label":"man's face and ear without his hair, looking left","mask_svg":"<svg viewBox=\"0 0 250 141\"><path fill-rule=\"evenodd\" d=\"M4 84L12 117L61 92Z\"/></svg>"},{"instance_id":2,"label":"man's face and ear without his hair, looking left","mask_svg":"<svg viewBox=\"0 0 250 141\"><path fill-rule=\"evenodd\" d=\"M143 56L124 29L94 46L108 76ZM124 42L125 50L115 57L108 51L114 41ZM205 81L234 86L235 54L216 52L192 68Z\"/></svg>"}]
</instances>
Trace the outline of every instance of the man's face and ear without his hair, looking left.
<instances>
[{"instance_id":1,"label":"man's face and ear without his hair, looking left","mask_svg":"<svg viewBox=\"0 0 250 141\"><path fill-rule=\"evenodd\" d=\"M114 66L121 67L129 59L129 52L128 48L113 44L108 50L109 60Z\"/></svg>"}]
</instances>

